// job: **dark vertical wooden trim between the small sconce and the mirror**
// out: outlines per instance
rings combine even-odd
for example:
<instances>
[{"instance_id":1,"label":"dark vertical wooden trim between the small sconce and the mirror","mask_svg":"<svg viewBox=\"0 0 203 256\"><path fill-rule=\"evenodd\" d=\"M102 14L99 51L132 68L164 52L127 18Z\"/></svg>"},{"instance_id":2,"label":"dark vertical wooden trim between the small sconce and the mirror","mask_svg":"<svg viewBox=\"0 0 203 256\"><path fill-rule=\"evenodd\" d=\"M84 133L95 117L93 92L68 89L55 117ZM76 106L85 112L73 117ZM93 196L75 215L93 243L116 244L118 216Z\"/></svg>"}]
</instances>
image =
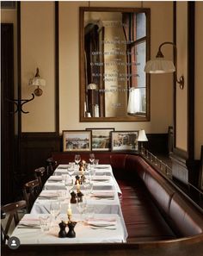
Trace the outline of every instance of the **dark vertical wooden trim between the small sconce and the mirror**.
<instances>
[{"instance_id":1,"label":"dark vertical wooden trim between the small sconce and the mirror","mask_svg":"<svg viewBox=\"0 0 203 256\"><path fill-rule=\"evenodd\" d=\"M58 2L55 2L55 127L59 134L59 47L58 47Z\"/></svg>"}]
</instances>

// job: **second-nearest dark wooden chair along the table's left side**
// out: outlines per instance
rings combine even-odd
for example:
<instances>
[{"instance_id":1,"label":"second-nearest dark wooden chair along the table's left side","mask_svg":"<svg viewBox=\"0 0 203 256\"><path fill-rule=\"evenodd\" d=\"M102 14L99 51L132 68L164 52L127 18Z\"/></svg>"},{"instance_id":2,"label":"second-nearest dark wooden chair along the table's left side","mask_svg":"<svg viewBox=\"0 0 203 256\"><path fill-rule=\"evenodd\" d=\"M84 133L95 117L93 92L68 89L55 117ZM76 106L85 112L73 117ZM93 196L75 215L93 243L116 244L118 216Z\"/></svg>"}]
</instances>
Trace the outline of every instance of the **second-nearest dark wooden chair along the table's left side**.
<instances>
[{"instance_id":1,"label":"second-nearest dark wooden chair along the table's left side","mask_svg":"<svg viewBox=\"0 0 203 256\"><path fill-rule=\"evenodd\" d=\"M34 201L39 196L41 191L40 181L39 179L34 179L24 184L23 186L23 196L25 201L27 202L27 210L30 212Z\"/></svg>"}]
</instances>

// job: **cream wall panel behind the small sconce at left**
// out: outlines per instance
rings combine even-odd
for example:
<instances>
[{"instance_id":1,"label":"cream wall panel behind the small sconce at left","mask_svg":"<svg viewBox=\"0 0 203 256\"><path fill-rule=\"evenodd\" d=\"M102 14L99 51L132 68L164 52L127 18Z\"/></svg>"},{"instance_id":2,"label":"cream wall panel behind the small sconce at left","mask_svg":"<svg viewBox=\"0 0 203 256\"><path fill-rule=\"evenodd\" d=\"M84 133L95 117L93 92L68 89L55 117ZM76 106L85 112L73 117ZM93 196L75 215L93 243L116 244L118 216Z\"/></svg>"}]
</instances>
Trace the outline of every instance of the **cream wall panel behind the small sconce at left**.
<instances>
[{"instance_id":1,"label":"cream wall panel behind the small sconce at left","mask_svg":"<svg viewBox=\"0 0 203 256\"><path fill-rule=\"evenodd\" d=\"M54 2L22 2L22 98L31 98L28 86L36 68L46 79L43 94L27 103L22 115L22 132L55 131L55 9Z\"/></svg>"}]
</instances>

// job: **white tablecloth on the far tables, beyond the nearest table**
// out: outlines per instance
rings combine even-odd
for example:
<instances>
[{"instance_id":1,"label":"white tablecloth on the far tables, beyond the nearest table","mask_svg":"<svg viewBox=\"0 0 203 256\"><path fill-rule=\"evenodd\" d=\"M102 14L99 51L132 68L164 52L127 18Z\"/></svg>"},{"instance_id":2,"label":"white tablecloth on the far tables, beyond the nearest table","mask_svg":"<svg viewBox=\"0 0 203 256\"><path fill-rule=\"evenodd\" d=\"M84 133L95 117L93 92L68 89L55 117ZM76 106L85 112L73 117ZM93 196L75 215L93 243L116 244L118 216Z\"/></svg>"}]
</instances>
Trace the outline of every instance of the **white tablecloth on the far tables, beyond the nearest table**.
<instances>
[{"instance_id":1,"label":"white tablecloth on the far tables, beyond the nearest table","mask_svg":"<svg viewBox=\"0 0 203 256\"><path fill-rule=\"evenodd\" d=\"M52 176L46 181L46 184L44 186L45 190L42 190L40 197L38 197L37 200L34 202L34 206L31 209L31 214L50 214L51 202L56 200L60 200L61 202L60 212L62 214L66 214L71 196L68 187L65 187L65 183L63 183L62 181L61 175L63 174L61 173L61 171L65 174L65 172L67 172L65 168L67 168L67 165L58 165L58 168L54 172L55 178ZM58 172L58 170L60 172ZM61 197L61 191L63 190L66 190L66 195ZM125 234L127 235L126 225L120 207L119 196L121 194L121 190L114 178L111 165L96 165L95 176L93 177L92 193L89 195L85 195L85 191L83 191L83 185L81 185L81 191L83 192L84 197L87 200L88 206L94 207L95 214L120 215L120 222L122 223L122 227L125 231ZM101 192L113 192L114 198L94 197L94 193ZM47 195L48 197L46 197ZM71 209L73 214L78 214L76 204L71 203Z\"/></svg>"}]
</instances>

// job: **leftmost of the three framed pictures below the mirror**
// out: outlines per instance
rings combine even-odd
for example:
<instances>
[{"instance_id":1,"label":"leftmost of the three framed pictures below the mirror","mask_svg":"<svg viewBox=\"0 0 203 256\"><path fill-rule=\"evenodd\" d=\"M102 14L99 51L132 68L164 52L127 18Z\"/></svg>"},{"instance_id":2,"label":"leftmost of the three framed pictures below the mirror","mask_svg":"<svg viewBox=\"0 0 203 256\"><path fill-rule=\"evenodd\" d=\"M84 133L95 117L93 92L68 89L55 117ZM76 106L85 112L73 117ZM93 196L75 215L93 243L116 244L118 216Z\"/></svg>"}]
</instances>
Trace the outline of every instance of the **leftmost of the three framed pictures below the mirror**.
<instances>
[{"instance_id":1,"label":"leftmost of the three framed pictures below the mirror","mask_svg":"<svg viewBox=\"0 0 203 256\"><path fill-rule=\"evenodd\" d=\"M64 151L91 151L91 131L63 131Z\"/></svg>"}]
</instances>

